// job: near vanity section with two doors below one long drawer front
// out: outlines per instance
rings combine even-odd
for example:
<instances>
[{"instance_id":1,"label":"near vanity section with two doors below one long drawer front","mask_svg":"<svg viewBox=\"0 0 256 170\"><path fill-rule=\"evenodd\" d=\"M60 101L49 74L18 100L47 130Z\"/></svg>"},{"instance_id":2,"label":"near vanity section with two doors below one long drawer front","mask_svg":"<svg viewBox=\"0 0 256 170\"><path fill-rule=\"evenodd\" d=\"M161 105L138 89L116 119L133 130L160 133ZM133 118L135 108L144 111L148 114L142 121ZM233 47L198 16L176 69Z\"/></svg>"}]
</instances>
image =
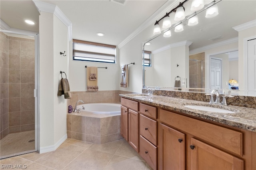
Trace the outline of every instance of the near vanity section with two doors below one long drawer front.
<instances>
[{"instance_id":1,"label":"near vanity section with two doors below one long drawer front","mask_svg":"<svg viewBox=\"0 0 256 170\"><path fill-rule=\"evenodd\" d=\"M242 132L163 109L160 122L159 169L244 169Z\"/></svg>"}]
</instances>

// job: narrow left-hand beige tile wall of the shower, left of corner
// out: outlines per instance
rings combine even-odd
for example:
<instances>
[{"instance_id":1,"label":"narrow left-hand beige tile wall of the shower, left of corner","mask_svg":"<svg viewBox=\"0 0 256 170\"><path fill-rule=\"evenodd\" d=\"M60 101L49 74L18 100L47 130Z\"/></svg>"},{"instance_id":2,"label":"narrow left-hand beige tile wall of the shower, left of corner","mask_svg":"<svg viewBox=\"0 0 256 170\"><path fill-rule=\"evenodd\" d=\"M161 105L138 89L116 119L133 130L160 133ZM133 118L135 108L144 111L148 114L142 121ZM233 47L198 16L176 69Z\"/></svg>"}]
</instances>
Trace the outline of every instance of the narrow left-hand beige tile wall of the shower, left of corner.
<instances>
[{"instance_id":1,"label":"narrow left-hand beige tile wall of the shower, left of corner","mask_svg":"<svg viewBox=\"0 0 256 170\"><path fill-rule=\"evenodd\" d=\"M8 115L8 36L0 33L0 139L9 134Z\"/></svg>"}]
</instances>

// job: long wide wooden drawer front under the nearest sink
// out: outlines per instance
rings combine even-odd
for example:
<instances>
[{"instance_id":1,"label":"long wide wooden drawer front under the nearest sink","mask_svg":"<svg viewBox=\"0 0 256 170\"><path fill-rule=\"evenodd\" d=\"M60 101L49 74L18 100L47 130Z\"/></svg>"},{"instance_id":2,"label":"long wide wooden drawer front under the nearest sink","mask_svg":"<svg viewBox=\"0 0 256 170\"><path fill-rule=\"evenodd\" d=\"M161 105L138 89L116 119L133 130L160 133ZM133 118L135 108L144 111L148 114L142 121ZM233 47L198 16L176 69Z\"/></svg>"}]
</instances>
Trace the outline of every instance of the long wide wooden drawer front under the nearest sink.
<instances>
[{"instance_id":1,"label":"long wide wooden drawer front under the nearest sink","mask_svg":"<svg viewBox=\"0 0 256 170\"><path fill-rule=\"evenodd\" d=\"M243 134L218 125L160 109L160 121L216 146L243 155Z\"/></svg>"}]
</instances>

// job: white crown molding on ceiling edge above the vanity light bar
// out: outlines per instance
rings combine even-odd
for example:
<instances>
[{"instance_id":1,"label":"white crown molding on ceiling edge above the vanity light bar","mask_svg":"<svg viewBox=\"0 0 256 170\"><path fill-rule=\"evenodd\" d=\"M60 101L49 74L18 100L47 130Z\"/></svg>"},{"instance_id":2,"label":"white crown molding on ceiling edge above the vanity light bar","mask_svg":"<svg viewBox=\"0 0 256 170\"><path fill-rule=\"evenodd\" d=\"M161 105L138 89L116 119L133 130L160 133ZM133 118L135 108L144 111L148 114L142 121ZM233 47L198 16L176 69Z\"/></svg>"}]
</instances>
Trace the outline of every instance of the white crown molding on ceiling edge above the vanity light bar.
<instances>
[{"instance_id":1,"label":"white crown molding on ceiling edge above the vanity light bar","mask_svg":"<svg viewBox=\"0 0 256 170\"><path fill-rule=\"evenodd\" d=\"M170 12L173 8L178 6L178 1L170 1L168 0L164 5L162 5L154 14L152 14L145 22L143 22L132 34L130 34L128 37L126 37L120 44L117 45L117 47L120 49L122 48L126 43L128 43L130 40L132 40L134 37L136 37L138 34L140 34L143 30L148 28L150 25L154 24L156 20L159 18L162 18L164 14L167 12Z\"/></svg>"}]
</instances>

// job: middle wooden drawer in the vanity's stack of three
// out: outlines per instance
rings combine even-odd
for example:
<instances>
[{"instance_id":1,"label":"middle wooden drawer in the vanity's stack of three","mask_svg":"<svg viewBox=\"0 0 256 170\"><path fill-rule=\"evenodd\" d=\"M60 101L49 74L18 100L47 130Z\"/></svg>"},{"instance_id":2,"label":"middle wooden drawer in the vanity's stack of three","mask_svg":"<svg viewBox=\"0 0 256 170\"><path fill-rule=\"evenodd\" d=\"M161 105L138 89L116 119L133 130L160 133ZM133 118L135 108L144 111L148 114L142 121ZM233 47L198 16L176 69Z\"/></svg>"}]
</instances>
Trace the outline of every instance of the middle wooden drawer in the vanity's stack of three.
<instances>
[{"instance_id":1,"label":"middle wooden drawer in the vanity's stack of three","mask_svg":"<svg viewBox=\"0 0 256 170\"><path fill-rule=\"evenodd\" d=\"M140 134L152 144L157 145L157 122L144 115L140 115Z\"/></svg>"}]
</instances>

